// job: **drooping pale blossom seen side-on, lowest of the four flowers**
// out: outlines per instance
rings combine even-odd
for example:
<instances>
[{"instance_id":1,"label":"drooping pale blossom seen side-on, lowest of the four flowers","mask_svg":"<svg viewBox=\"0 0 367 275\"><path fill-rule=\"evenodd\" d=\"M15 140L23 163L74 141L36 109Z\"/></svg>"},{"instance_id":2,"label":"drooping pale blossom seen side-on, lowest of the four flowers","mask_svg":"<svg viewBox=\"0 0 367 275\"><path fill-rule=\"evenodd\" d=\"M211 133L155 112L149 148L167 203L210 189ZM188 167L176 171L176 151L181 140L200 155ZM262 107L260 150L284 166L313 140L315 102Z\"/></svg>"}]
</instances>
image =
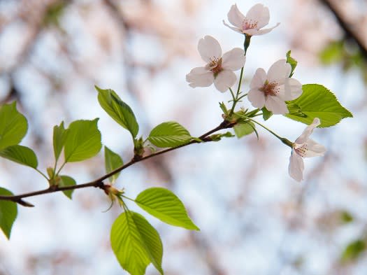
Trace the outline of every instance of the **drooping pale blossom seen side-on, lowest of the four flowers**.
<instances>
[{"instance_id":1,"label":"drooping pale blossom seen side-on, lowest of the four flowers","mask_svg":"<svg viewBox=\"0 0 367 275\"><path fill-rule=\"evenodd\" d=\"M308 138L312 134L313 129L319 125L319 118L315 118L293 143L292 154L289 157L288 171L289 176L292 176L296 181L303 180L303 157L322 156L326 152L324 146Z\"/></svg>"}]
</instances>

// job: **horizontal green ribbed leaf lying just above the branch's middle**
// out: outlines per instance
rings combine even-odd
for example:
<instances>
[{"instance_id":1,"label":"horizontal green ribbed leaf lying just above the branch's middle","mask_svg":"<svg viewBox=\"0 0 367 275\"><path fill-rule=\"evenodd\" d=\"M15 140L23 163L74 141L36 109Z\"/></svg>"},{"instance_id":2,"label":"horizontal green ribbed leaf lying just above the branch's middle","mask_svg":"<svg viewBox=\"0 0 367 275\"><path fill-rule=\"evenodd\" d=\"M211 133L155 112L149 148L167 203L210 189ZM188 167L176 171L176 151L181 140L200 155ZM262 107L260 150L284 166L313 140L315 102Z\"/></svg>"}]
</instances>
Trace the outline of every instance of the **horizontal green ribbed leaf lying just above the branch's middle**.
<instances>
[{"instance_id":1,"label":"horizontal green ribbed leaf lying just above the branch's middle","mask_svg":"<svg viewBox=\"0 0 367 275\"><path fill-rule=\"evenodd\" d=\"M152 129L147 139L157 147L176 147L192 139L190 133L178 122L163 122Z\"/></svg>"}]
</instances>

